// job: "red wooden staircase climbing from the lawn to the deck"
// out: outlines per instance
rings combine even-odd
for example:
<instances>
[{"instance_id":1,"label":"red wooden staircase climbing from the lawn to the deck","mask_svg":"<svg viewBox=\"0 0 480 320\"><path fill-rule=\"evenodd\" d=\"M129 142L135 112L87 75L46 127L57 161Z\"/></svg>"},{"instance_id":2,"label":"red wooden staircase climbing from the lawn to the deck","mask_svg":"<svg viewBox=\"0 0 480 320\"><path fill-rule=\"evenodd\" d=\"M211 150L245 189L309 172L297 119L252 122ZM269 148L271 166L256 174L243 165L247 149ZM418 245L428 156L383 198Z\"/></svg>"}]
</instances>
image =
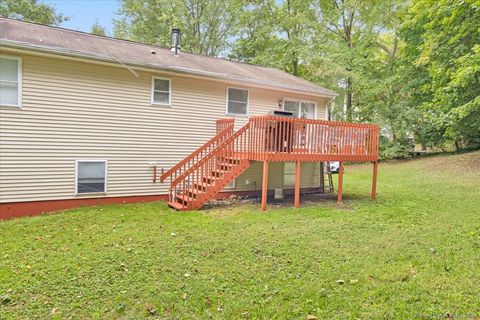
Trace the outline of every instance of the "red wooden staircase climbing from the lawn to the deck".
<instances>
[{"instance_id":1,"label":"red wooden staircase climbing from the lawn to the deck","mask_svg":"<svg viewBox=\"0 0 480 320\"><path fill-rule=\"evenodd\" d=\"M249 123L233 132L233 119L217 121L217 135L165 172L170 178L168 205L176 210L195 210L214 198L251 162L241 152L246 148Z\"/></svg>"}]
</instances>

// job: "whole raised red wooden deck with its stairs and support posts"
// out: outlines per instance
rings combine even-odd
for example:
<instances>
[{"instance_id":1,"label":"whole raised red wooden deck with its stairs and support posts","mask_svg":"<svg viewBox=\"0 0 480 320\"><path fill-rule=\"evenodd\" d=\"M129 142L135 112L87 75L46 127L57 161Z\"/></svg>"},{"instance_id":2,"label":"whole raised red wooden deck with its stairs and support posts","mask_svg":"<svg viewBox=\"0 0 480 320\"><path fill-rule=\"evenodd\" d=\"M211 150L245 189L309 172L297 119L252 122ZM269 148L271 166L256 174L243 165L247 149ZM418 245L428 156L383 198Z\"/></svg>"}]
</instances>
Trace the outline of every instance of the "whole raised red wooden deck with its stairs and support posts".
<instances>
[{"instance_id":1,"label":"whole raised red wooden deck with its stairs and support posts","mask_svg":"<svg viewBox=\"0 0 480 320\"><path fill-rule=\"evenodd\" d=\"M342 201L343 162L373 162L376 195L379 127L370 124L253 116L238 131L234 119L217 120L217 134L170 170L169 204L178 210L200 208L252 161L262 161L262 209L266 209L268 163L296 162L295 206L299 205L301 162L339 161L338 201ZM154 179L155 180L155 179Z\"/></svg>"}]
</instances>

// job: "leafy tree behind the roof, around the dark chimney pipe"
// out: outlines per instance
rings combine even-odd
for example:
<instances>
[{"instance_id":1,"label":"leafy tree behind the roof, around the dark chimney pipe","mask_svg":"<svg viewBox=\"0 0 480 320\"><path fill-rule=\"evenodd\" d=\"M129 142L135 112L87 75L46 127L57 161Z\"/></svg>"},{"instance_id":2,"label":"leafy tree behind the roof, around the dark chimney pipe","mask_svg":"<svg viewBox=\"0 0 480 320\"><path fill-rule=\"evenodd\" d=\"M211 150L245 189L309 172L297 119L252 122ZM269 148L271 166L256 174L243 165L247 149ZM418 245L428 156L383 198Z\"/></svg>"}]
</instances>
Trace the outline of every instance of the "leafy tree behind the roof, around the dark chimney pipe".
<instances>
[{"instance_id":1,"label":"leafy tree behind the roof, around the dark chimney pipe","mask_svg":"<svg viewBox=\"0 0 480 320\"><path fill-rule=\"evenodd\" d=\"M233 0L122 0L114 34L169 47L171 29L180 28L182 49L217 56L229 47L238 10Z\"/></svg>"}]
</instances>

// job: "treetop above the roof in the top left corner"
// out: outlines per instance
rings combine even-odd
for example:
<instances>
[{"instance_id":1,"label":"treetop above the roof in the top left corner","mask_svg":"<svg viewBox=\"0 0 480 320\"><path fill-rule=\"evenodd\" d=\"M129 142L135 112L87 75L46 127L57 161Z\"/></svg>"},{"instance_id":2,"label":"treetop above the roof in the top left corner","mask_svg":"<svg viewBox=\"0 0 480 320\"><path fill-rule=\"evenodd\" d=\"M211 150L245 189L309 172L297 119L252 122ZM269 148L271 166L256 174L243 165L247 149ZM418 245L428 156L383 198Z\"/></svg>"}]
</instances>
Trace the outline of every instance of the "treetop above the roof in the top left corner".
<instances>
[{"instance_id":1,"label":"treetop above the roof in the top left corner","mask_svg":"<svg viewBox=\"0 0 480 320\"><path fill-rule=\"evenodd\" d=\"M37 0L1 0L0 17L55 26L69 19L57 13L55 7Z\"/></svg>"}]
</instances>

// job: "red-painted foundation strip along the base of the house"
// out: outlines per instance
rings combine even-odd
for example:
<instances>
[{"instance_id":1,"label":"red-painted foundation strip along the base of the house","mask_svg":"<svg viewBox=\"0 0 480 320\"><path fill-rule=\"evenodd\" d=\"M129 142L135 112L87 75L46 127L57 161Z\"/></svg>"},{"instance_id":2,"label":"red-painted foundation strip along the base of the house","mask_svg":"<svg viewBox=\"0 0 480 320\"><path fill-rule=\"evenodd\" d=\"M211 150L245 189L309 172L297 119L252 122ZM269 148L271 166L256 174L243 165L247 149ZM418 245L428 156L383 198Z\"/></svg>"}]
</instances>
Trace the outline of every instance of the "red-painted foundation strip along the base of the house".
<instances>
[{"instance_id":1,"label":"red-painted foundation strip along the base of the house","mask_svg":"<svg viewBox=\"0 0 480 320\"><path fill-rule=\"evenodd\" d=\"M318 188L304 188L302 191L314 191ZM261 190L257 191L225 191L217 195L217 199L228 199L231 195L241 197L259 196ZM285 194L292 194L293 189L284 189ZM268 190L268 195L272 196L274 190ZM81 206L97 206L102 204L115 203L135 203L135 202L152 202L168 200L167 194L155 196L128 196L128 197L109 197L109 198L88 198L88 199L65 199L65 200L44 200L44 201L27 201L27 202L9 202L0 203L0 220L11 218L19 218L25 216L36 216L52 211L65 209L73 209Z\"/></svg>"}]
</instances>

